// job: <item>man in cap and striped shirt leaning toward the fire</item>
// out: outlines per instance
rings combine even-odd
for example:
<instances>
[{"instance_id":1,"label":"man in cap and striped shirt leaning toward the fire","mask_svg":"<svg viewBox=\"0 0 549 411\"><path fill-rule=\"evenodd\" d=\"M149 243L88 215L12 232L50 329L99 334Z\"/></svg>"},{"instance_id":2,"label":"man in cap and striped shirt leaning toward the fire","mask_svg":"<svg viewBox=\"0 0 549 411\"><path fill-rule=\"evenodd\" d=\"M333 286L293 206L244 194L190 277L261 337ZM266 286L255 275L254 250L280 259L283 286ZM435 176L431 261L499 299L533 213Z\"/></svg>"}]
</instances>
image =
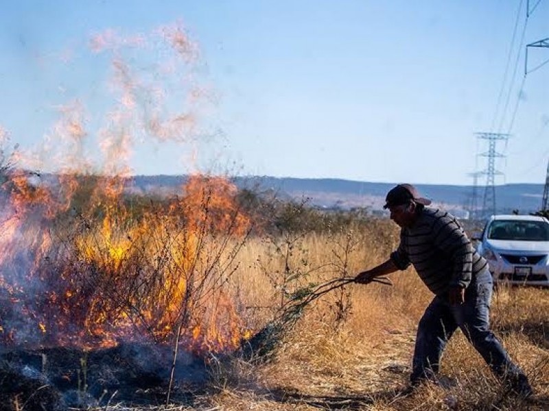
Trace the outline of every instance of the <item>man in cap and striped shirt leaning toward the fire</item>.
<instances>
[{"instance_id":1,"label":"man in cap and striped shirt leaning toward the fire","mask_svg":"<svg viewBox=\"0 0 549 411\"><path fill-rule=\"evenodd\" d=\"M487 261L471 246L454 216L426 207L430 203L411 184L399 184L388 192L384 208L401 227L400 244L386 262L358 274L355 282L368 284L412 264L434 293L417 329L412 386L435 380L447 340L460 327L495 375L529 397L533 391L526 375L489 328L493 282Z\"/></svg>"}]
</instances>

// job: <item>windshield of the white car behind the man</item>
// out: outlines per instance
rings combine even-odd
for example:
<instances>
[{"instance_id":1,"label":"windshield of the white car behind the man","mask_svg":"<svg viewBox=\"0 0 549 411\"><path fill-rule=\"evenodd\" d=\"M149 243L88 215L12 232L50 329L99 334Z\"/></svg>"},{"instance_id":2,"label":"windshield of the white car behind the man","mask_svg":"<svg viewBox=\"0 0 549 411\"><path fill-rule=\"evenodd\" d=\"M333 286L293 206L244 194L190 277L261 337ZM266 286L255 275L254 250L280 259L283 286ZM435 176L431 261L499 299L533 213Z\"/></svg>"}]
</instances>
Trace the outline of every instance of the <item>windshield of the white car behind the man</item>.
<instances>
[{"instance_id":1,"label":"windshield of the white car behind the man","mask_svg":"<svg viewBox=\"0 0 549 411\"><path fill-rule=\"evenodd\" d=\"M544 221L495 220L488 230L491 240L549 241L549 224Z\"/></svg>"}]
</instances>

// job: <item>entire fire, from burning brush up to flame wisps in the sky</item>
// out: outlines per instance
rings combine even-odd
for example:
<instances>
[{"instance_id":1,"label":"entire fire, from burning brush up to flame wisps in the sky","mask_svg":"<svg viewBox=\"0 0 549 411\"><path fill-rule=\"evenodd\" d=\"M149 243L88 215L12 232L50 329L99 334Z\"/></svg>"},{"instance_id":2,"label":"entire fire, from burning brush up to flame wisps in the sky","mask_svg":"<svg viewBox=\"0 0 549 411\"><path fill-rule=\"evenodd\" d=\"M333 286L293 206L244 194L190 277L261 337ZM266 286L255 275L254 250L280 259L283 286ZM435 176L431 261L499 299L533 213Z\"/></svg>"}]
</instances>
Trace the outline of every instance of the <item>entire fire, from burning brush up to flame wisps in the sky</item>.
<instances>
[{"instance_id":1,"label":"entire fire, from burning brush up to flame wisps in the sky","mask_svg":"<svg viewBox=\"0 0 549 411\"><path fill-rule=\"evenodd\" d=\"M5 345L93 348L143 338L222 351L250 337L229 280L251 222L230 179L196 173L178 197L156 203L127 192L136 142L189 142L198 134L197 107L207 95L181 84L185 105L167 105L165 87L155 79L187 79L181 73L198 58L198 47L180 26L152 36L94 36L93 52L112 57L114 104L104 125L91 132L84 104L69 102L59 108L42 152L17 150L16 166L0 167ZM159 73L134 70L122 49L137 53L159 38L162 55L171 53ZM1 142L6 135L0 127ZM91 136L98 139L93 147L101 149L100 166L92 166L84 149ZM47 162L57 166L54 174L28 171Z\"/></svg>"}]
</instances>

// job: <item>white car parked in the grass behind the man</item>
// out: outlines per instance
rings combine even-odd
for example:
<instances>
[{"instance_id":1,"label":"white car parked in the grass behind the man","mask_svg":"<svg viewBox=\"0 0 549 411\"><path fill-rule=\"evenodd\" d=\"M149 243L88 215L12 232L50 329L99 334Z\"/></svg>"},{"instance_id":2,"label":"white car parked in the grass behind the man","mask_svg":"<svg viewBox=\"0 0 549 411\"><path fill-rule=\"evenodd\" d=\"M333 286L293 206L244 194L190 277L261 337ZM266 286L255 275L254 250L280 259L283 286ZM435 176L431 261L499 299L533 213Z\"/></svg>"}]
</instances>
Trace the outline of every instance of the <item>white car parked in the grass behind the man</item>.
<instances>
[{"instance_id":1,"label":"white car parked in the grass behind the man","mask_svg":"<svg viewBox=\"0 0 549 411\"><path fill-rule=\"evenodd\" d=\"M494 282L549 286L549 221L542 216L491 216L478 252L488 260Z\"/></svg>"}]
</instances>

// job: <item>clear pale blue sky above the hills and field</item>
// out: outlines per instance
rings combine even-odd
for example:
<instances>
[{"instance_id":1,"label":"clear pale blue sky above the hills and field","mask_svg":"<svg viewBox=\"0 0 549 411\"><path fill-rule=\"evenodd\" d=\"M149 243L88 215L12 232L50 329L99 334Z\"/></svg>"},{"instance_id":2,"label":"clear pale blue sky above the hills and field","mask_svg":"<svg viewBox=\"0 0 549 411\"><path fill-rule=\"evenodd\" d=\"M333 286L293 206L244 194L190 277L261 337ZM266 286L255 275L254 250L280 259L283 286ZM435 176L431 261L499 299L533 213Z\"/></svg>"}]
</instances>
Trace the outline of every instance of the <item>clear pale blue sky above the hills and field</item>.
<instances>
[{"instance_id":1,"label":"clear pale blue sky above the hills and field","mask_svg":"<svg viewBox=\"0 0 549 411\"><path fill-rule=\"evenodd\" d=\"M6 1L0 127L40 158L36 168L104 161L97 136L121 129L111 127L120 110L113 60L120 59L132 79L161 90L161 114L190 112L196 123L177 141L122 127L132 134L132 173L471 184L467 173L487 164L478 156L487 145L475 133L511 132L498 143L506 158L496 162L505 174L496 182L541 184L549 64L524 78L524 46L549 37L549 1L527 21L526 3ZM158 36L172 25L198 51L177 63L176 74L163 71L173 56ZM116 51L90 48L104 33L117 39ZM135 47L136 38L146 45ZM549 49L528 53L529 69L549 59ZM196 90L200 98L189 98ZM135 112L150 116L153 104L143 99L149 102L137 101ZM83 151L67 155L56 122L60 107L75 105L86 137Z\"/></svg>"}]
</instances>

